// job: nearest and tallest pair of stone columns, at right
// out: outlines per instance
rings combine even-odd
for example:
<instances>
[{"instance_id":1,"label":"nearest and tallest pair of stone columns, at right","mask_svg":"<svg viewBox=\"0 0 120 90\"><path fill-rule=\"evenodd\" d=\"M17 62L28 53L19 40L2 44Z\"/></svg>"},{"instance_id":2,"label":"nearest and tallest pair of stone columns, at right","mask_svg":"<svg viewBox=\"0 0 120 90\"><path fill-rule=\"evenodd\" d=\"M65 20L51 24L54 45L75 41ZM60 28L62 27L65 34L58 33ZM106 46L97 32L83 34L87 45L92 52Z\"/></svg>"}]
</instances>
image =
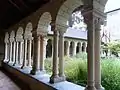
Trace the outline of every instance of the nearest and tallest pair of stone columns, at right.
<instances>
[{"instance_id":1,"label":"nearest and tallest pair of stone columns, at right","mask_svg":"<svg viewBox=\"0 0 120 90\"><path fill-rule=\"evenodd\" d=\"M91 15L91 14L90 14ZM101 87L100 64L100 23L96 24L92 15L88 27L88 82L85 90L103 90Z\"/></svg>"}]
</instances>

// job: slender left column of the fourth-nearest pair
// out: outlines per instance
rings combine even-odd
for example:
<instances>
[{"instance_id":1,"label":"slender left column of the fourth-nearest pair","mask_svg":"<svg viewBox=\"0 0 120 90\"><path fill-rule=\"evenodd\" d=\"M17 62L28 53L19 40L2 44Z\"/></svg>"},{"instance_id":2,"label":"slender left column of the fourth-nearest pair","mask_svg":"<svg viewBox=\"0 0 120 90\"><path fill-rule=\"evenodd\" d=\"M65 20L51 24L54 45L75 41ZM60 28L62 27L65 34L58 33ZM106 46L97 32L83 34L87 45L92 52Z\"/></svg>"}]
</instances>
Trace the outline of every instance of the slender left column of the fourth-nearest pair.
<instances>
[{"instance_id":1,"label":"slender left column of the fourth-nearest pair","mask_svg":"<svg viewBox=\"0 0 120 90\"><path fill-rule=\"evenodd\" d=\"M24 56L23 56L23 63L22 63L21 69L27 67L27 41L28 40L25 38L24 39Z\"/></svg>"}]
</instances>

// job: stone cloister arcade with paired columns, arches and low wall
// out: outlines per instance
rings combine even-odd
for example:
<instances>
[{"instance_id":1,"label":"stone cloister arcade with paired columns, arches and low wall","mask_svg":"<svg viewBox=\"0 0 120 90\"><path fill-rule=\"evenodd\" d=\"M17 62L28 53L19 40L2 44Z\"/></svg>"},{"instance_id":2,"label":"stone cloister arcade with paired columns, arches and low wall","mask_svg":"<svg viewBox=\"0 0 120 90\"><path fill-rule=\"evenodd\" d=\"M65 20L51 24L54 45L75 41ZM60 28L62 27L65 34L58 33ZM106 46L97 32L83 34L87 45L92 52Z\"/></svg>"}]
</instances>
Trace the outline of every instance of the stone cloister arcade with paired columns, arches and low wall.
<instances>
[{"instance_id":1,"label":"stone cloister arcade with paired columns, arches and low wall","mask_svg":"<svg viewBox=\"0 0 120 90\"><path fill-rule=\"evenodd\" d=\"M51 0L9 27L4 34L2 67L26 82L31 90L104 90L101 85L100 26L104 25L107 0ZM87 25L87 41L65 36L67 21L76 8ZM51 27L52 35L48 33ZM66 81L64 55L87 53L87 85ZM52 75L44 60L52 57ZM73 67L74 68L74 67Z\"/></svg>"}]
</instances>

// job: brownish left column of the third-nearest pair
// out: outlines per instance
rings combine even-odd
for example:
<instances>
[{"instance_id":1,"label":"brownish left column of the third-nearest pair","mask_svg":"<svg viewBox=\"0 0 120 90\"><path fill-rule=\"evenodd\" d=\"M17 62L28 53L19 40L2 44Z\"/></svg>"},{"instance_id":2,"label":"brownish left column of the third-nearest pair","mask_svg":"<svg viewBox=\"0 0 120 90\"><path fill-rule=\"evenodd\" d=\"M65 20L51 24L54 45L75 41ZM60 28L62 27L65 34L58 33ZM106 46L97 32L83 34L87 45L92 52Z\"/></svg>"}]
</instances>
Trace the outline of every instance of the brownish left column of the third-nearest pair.
<instances>
[{"instance_id":1,"label":"brownish left column of the third-nearest pair","mask_svg":"<svg viewBox=\"0 0 120 90\"><path fill-rule=\"evenodd\" d=\"M40 72L40 36L37 36L37 32L33 33L34 43L33 43L33 67L31 74L35 75Z\"/></svg>"}]
</instances>

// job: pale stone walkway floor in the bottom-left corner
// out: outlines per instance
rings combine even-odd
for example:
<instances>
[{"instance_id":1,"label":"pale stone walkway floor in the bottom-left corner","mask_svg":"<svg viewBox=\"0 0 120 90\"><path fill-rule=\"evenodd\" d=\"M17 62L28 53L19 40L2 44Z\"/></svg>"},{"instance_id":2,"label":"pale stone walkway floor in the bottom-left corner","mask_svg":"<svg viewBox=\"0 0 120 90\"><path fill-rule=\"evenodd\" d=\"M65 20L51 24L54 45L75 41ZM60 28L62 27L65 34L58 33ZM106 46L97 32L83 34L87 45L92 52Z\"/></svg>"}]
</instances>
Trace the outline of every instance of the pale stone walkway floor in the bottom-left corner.
<instances>
[{"instance_id":1,"label":"pale stone walkway floor in the bottom-left corner","mask_svg":"<svg viewBox=\"0 0 120 90\"><path fill-rule=\"evenodd\" d=\"M0 90L21 90L8 76L0 71Z\"/></svg>"}]
</instances>

